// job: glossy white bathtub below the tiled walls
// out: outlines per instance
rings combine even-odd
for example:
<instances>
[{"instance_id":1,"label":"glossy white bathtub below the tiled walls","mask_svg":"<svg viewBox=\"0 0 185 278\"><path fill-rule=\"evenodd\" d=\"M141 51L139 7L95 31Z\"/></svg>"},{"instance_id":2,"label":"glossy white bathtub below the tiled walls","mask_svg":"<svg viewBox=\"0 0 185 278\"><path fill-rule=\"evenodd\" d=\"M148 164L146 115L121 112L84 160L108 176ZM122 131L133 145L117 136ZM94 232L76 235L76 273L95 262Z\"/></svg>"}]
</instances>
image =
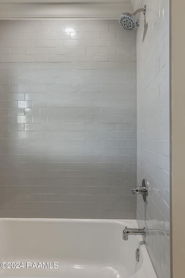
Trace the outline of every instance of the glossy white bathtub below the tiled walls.
<instances>
[{"instance_id":1,"label":"glossy white bathtub below the tiled walls","mask_svg":"<svg viewBox=\"0 0 185 278\"><path fill-rule=\"evenodd\" d=\"M23 262L24 267L1 264L5 268L0 267L0 275L157 278L142 236L129 235L124 241L125 226L138 228L136 220L1 218L0 263ZM140 249L139 262L135 259L136 248ZM43 262L46 268L41 268ZM47 268L47 262L51 268ZM58 268L52 268L54 262Z\"/></svg>"}]
</instances>

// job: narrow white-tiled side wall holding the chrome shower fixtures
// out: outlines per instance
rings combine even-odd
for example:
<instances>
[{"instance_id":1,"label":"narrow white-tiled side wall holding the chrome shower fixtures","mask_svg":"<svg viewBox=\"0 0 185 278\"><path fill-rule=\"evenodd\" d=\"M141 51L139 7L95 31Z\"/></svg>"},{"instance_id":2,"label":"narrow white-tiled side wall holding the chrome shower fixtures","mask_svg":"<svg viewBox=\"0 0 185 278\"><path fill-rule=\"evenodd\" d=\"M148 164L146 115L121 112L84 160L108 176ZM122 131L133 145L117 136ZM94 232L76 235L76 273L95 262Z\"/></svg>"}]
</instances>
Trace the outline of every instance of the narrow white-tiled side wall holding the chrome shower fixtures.
<instances>
[{"instance_id":1,"label":"narrow white-tiled side wall holding the chrome shower fixtures","mask_svg":"<svg viewBox=\"0 0 185 278\"><path fill-rule=\"evenodd\" d=\"M169 235L169 0L142 1L137 30L137 220L158 278L170 277Z\"/></svg>"}]
</instances>

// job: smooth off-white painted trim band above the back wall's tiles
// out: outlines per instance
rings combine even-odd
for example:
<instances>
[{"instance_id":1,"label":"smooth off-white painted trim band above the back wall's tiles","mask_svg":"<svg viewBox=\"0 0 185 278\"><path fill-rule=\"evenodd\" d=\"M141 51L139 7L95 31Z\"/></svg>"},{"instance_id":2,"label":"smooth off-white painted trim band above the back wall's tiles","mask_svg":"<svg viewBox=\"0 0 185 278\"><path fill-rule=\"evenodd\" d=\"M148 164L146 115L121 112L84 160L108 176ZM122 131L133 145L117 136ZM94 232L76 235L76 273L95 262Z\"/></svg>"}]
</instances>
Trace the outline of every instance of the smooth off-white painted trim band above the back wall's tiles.
<instances>
[{"instance_id":1,"label":"smooth off-white painted trim band above the back wall's tiles","mask_svg":"<svg viewBox=\"0 0 185 278\"><path fill-rule=\"evenodd\" d=\"M130 3L55 3L0 4L0 18L15 17L108 17L118 18L121 12L133 12Z\"/></svg>"}]
</instances>

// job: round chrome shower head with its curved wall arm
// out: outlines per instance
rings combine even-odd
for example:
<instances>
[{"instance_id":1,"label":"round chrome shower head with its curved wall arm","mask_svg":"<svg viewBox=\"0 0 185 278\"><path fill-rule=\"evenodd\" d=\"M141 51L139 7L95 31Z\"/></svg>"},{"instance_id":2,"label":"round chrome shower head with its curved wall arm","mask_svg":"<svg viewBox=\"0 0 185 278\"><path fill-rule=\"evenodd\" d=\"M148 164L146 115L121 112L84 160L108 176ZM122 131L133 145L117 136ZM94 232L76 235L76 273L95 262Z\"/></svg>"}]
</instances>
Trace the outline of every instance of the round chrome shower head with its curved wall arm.
<instances>
[{"instance_id":1,"label":"round chrome shower head with its curved wall arm","mask_svg":"<svg viewBox=\"0 0 185 278\"><path fill-rule=\"evenodd\" d=\"M138 12L143 12L143 14L145 15L146 5L143 9L138 9L133 14L129 14L128 12L124 12L123 14L121 14L121 16L119 17L119 24L127 31L135 31L136 28L139 26L138 21L135 17Z\"/></svg>"}]
</instances>

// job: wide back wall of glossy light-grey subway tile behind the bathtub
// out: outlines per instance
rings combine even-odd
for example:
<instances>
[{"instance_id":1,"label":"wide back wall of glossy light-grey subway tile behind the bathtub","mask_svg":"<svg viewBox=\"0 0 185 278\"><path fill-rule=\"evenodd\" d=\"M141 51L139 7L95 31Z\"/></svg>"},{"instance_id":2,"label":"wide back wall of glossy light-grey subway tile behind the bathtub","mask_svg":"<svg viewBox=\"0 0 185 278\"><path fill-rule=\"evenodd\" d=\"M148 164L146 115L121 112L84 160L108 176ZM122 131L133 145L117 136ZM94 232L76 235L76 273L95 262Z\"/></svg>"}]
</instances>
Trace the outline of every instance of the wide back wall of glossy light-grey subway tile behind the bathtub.
<instances>
[{"instance_id":1,"label":"wide back wall of glossy light-grey subway tile behind the bathtub","mask_svg":"<svg viewBox=\"0 0 185 278\"><path fill-rule=\"evenodd\" d=\"M136 32L0 21L0 217L136 217Z\"/></svg>"}]
</instances>

